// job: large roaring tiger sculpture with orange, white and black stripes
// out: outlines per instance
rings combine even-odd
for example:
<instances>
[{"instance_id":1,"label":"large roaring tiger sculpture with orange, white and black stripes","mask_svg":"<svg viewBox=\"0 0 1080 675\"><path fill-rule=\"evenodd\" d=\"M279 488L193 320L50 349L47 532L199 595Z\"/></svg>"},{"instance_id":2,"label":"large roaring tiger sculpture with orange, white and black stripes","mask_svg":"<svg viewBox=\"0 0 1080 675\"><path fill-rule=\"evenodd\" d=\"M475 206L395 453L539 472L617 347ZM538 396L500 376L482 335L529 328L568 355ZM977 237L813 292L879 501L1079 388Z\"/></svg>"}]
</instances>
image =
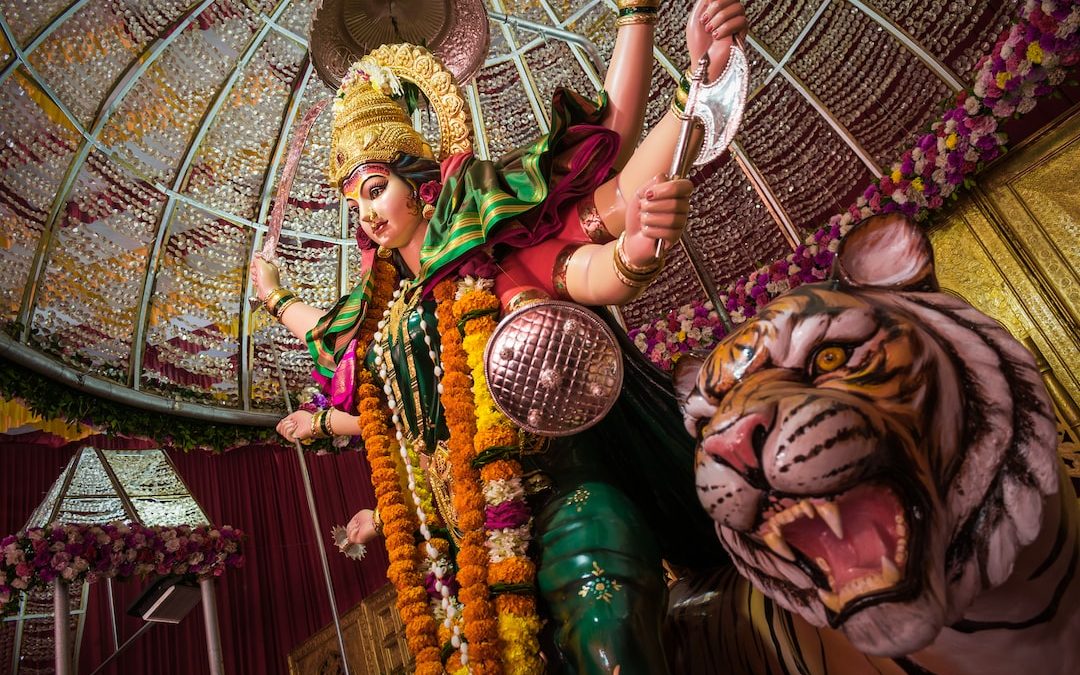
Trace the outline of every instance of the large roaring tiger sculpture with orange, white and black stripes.
<instances>
[{"instance_id":1,"label":"large roaring tiger sculpture with orange, white and black stripes","mask_svg":"<svg viewBox=\"0 0 1080 675\"><path fill-rule=\"evenodd\" d=\"M1051 403L1020 342L940 292L914 222L855 226L831 280L680 360L676 390L738 571L672 589L673 672L1080 673Z\"/></svg>"}]
</instances>

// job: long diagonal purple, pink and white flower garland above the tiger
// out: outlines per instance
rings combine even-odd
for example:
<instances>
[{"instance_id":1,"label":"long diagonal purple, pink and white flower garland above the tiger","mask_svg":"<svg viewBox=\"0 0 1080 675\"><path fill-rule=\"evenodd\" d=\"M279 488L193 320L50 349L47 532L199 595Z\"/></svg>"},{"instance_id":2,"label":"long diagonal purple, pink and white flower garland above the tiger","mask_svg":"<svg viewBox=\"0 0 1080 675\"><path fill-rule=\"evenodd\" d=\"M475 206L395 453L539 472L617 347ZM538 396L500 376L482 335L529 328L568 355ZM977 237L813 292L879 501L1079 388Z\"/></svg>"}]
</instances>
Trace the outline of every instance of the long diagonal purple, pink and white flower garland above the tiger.
<instances>
[{"instance_id":1,"label":"long diagonal purple, pink and white flower garland above the tiger","mask_svg":"<svg viewBox=\"0 0 1080 675\"><path fill-rule=\"evenodd\" d=\"M949 99L942 119L904 151L892 170L794 253L738 279L720 294L731 321L745 322L778 295L828 275L839 240L859 220L903 212L924 219L971 186L971 176L1005 150L1000 125L1030 112L1080 63L1080 0L1027 0L1017 23L984 56L971 91ZM671 369L687 351L724 336L710 302L683 306L634 328L630 337L656 365ZM710 323L700 321L701 314Z\"/></svg>"}]
</instances>

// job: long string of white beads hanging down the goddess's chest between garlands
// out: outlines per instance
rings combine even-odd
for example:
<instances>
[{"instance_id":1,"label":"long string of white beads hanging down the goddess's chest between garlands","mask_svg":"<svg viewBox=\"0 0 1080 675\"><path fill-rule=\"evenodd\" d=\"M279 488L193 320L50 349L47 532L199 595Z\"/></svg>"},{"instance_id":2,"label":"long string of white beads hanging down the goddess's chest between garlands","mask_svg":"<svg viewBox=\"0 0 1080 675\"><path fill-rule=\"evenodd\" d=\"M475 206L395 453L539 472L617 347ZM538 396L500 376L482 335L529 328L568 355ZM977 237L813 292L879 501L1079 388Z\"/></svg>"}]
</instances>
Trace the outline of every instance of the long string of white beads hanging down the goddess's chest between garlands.
<instances>
[{"instance_id":1,"label":"long string of white beads hanging down the goddess's chest between garlands","mask_svg":"<svg viewBox=\"0 0 1080 675\"><path fill-rule=\"evenodd\" d=\"M454 618L458 615L458 607L456 602L450 598L450 589L448 585L443 583L443 579L447 572L447 565L440 561L438 550L435 549L434 544L431 543L431 528L428 526L428 514L423 511L422 500L416 490L416 474L413 471L413 462L408 458L408 442L405 437L405 432L403 431L404 426L402 422L402 410L397 406L397 400L394 399L393 387L390 384L390 378L394 377L393 370L391 370L392 356L390 354L390 332L387 330L387 325L390 322L390 316L393 311L393 307L396 302L403 299L403 294L408 291L408 280L401 280L397 288L394 289L393 296L390 301L387 302L387 309L382 312L382 320L378 323L378 329L374 336L374 351L375 351L375 365L379 369L379 378L382 380L382 391L387 394L387 405L390 407L391 420L394 423L395 438L397 440L397 449L402 457L402 462L405 464L405 474L408 481L408 489L413 495L413 503L416 505L416 516L420 522L420 534L423 536L424 540L424 553L428 556L428 561L431 565L431 570L435 575L435 592L442 597L441 606L445 619L443 619L443 625L450 629L450 645L455 649L461 650L461 662L468 663L468 644L461 638L461 623L459 621L454 621ZM419 287L414 289L419 293ZM403 313L403 316L407 315L407 312ZM438 361L438 354L435 353L434 346L431 340L431 336L428 334L428 322L420 316L420 330L423 332L423 342L428 347L428 356L431 359L431 363L434 364L434 375L436 382L436 391L440 395L443 393L443 368Z\"/></svg>"}]
</instances>

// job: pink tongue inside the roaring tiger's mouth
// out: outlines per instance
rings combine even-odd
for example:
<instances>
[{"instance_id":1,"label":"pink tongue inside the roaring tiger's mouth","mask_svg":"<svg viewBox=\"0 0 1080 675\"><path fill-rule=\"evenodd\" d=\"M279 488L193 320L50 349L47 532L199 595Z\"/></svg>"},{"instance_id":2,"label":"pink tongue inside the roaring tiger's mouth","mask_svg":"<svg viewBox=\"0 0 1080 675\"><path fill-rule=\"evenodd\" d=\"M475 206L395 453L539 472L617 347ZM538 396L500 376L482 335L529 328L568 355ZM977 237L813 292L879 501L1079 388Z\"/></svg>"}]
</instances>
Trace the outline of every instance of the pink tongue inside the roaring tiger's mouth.
<instances>
[{"instance_id":1,"label":"pink tongue inside the roaring tiger's mouth","mask_svg":"<svg viewBox=\"0 0 1080 675\"><path fill-rule=\"evenodd\" d=\"M822 568L833 590L838 591L851 581L880 575L882 557L895 562L897 516L903 518L903 510L896 496L882 487L854 488L835 503L843 527L842 539L820 517L799 518L781 531L789 545Z\"/></svg>"}]
</instances>

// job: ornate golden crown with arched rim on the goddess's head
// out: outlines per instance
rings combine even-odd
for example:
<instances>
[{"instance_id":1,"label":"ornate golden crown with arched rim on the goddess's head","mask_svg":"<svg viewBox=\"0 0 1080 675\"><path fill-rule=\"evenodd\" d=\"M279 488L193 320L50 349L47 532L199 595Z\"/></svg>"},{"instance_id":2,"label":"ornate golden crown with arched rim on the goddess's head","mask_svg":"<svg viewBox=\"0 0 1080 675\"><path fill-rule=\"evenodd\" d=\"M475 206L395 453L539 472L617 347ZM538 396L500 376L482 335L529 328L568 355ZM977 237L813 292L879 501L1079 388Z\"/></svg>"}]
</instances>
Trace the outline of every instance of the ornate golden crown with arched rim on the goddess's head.
<instances>
[{"instance_id":1,"label":"ornate golden crown with arched rim on the goddess's head","mask_svg":"<svg viewBox=\"0 0 1080 675\"><path fill-rule=\"evenodd\" d=\"M384 44L353 64L334 102L329 180L340 186L365 162L391 162L399 154L435 159L413 129L401 96L401 80L415 84L438 119L440 157L465 152L469 116L454 78L431 52L414 44Z\"/></svg>"}]
</instances>

